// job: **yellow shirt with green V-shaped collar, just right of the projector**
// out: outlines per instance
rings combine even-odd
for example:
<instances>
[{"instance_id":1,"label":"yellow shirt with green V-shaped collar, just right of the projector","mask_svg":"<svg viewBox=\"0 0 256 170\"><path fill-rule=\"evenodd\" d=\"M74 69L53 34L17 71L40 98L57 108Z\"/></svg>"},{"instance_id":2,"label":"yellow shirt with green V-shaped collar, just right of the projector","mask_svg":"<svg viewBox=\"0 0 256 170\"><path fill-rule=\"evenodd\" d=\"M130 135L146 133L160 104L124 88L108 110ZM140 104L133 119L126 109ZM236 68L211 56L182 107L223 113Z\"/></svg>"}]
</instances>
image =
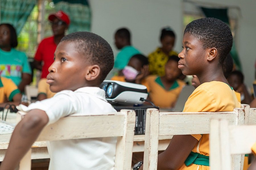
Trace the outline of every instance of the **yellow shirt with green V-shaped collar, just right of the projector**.
<instances>
[{"instance_id":1,"label":"yellow shirt with green V-shaped collar, just right of the projector","mask_svg":"<svg viewBox=\"0 0 256 170\"><path fill-rule=\"evenodd\" d=\"M182 87L185 86L185 82L177 79L172 87L166 90L160 77L156 75L148 76L146 82L150 89L148 92L151 101L160 108L174 107Z\"/></svg>"}]
</instances>

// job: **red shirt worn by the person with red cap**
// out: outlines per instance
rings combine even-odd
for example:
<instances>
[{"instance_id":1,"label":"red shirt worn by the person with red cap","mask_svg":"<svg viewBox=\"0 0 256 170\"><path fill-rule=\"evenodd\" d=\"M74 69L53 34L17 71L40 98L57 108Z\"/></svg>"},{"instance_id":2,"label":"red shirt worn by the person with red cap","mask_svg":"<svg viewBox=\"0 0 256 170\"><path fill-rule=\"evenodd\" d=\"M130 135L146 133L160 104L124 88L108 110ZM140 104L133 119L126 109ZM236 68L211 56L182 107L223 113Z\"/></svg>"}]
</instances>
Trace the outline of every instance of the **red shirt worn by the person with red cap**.
<instances>
[{"instance_id":1,"label":"red shirt worn by the person with red cap","mask_svg":"<svg viewBox=\"0 0 256 170\"><path fill-rule=\"evenodd\" d=\"M53 57L56 47L53 37L43 39L38 45L34 59L37 61L43 61L41 78L46 78L49 73L48 68L54 61Z\"/></svg>"}]
</instances>

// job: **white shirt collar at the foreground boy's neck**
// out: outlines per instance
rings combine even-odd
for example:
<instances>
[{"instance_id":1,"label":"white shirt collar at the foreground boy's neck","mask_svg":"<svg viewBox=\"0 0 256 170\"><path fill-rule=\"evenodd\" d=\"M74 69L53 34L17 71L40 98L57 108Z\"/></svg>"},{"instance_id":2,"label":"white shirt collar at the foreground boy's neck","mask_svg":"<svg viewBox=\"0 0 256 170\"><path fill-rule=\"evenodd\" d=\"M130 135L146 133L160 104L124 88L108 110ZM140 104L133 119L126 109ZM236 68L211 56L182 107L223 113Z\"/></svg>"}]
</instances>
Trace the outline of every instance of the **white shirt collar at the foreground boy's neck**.
<instances>
[{"instance_id":1,"label":"white shirt collar at the foreground boy's neck","mask_svg":"<svg viewBox=\"0 0 256 170\"><path fill-rule=\"evenodd\" d=\"M99 87L81 87L81 88L75 90L75 92L91 94L99 99L107 101L106 97L105 97L105 91Z\"/></svg>"}]
</instances>

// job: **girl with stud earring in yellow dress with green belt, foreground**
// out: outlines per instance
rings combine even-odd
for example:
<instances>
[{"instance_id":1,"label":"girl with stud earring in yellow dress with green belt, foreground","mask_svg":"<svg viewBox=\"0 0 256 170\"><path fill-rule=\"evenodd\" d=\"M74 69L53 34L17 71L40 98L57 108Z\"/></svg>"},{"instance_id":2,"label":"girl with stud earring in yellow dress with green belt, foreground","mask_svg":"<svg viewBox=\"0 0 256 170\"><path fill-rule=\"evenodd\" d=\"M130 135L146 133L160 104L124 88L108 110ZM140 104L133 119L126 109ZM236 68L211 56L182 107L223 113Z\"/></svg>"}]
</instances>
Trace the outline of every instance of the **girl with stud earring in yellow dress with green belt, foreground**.
<instances>
[{"instance_id":1,"label":"girl with stud earring in yellow dress with green belt, foreground","mask_svg":"<svg viewBox=\"0 0 256 170\"><path fill-rule=\"evenodd\" d=\"M216 18L201 18L186 26L178 68L184 75L196 75L201 85L189 96L183 112L233 111L241 107L222 71L232 43L230 28ZM209 135L174 135L167 149L158 155L158 169L210 169Z\"/></svg>"}]
</instances>

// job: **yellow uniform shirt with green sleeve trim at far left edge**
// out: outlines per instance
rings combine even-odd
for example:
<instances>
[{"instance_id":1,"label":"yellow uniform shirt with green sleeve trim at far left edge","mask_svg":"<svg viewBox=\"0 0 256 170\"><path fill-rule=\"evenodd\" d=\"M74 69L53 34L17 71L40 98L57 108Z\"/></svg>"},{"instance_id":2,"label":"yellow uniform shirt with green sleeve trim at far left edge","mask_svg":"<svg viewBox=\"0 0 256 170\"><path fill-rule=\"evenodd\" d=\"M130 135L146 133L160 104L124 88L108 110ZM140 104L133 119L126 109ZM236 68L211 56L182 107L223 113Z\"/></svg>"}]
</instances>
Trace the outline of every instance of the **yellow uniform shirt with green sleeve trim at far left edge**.
<instances>
[{"instance_id":1,"label":"yellow uniform shirt with green sleeve trim at far left edge","mask_svg":"<svg viewBox=\"0 0 256 170\"><path fill-rule=\"evenodd\" d=\"M13 96L20 93L16 84L9 78L0 78L0 103L13 101Z\"/></svg>"}]
</instances>

